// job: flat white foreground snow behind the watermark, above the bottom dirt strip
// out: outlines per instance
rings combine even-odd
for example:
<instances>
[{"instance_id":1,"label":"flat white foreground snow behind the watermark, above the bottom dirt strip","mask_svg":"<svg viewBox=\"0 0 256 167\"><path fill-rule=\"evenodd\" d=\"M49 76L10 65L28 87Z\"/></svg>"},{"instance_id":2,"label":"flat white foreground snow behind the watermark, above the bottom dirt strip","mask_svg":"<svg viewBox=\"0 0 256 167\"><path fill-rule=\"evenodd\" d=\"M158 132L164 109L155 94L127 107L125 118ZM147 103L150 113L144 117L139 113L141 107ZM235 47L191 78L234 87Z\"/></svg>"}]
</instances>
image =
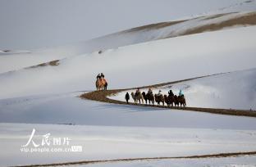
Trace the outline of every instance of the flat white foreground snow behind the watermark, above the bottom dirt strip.
<instances>
[{"instance_id":1,"label":"flat white foreground snow behind the watermark, above the bottom dirt strip","mask_svg":"<svg viewBox=\"0 0 256 167\"><path fill-rule=\"evenodd\" d=\"M32 129L35 129L33 141L36 144L41 142L44 134L50 133L50 142L53 142L51 141L53 138L70 138L70 146L82 146L83 151L22 152L21 146L28 142ZM192 156L221 152L255 151L256 149L255 130L2 123L0 124L0 132L1 165ZM51 146L53 145L45 147ZM31 147L33 148L33 145L28 148ZM39 146L39 148L42 147Z\"/></svg>"}]
</instances>

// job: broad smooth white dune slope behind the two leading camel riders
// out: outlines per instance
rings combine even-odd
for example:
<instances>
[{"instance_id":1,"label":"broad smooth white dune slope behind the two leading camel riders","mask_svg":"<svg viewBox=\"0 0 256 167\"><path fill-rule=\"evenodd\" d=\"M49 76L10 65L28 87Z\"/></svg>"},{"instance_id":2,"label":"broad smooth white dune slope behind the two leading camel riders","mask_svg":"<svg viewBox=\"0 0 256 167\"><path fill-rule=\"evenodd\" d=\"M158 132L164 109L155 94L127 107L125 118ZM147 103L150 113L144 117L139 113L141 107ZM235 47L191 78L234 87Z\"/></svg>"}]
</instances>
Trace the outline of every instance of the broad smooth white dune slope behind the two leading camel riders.
<instances>
[{"instance_id":1,"label":"broad smooth white dune slope behind the two leading camel riders","mask_svg":"<svg viewBox=\"0 0 256 167\"><path fill-rule=\"evenodd\" d=\"M99 72L106 75L109 88L132 88L255 68L255 30L251 26L167 38L0 74L0 98L92 90Z\"/></svg>"}]
</instances>

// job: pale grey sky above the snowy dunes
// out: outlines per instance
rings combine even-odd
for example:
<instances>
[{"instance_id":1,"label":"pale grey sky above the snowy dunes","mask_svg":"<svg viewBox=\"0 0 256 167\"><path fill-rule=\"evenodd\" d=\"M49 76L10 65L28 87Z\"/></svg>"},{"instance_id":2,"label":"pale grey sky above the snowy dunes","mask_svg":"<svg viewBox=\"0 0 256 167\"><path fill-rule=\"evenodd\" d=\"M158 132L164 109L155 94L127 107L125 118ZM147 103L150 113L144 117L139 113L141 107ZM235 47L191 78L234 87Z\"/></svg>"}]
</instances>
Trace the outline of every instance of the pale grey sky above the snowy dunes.
<instances>
[{"instance_id":1,"label":"pale grey sky above the snowy dunes","mask_svg":"<svg viewBox=\"0 0 256 167\"><path fill-rule=\"evenodd\" d=\"M56 47L241 0L0 0L0 50Z\"/></svg>"}]
</instances>

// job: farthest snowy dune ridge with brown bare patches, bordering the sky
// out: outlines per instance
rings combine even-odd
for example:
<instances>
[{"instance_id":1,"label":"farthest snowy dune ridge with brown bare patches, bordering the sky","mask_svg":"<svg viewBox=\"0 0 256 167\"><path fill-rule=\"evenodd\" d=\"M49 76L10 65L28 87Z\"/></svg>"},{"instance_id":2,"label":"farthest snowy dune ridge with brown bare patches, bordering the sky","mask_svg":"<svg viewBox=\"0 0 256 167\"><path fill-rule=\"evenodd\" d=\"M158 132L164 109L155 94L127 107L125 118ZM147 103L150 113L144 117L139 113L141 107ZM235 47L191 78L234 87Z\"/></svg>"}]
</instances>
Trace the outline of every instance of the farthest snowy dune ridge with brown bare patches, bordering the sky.
<instances>
[{"instance_id":1,"label":"farthest snowy dune ridge with brown bare patches, bordering the sky","mask_svg":"<svg viewBox=\"0 0 256 167\"><path fill-rule=\"evenodd\" d=\"M55 61L69 56L105 51L107 49L135 43L145 43L162 38L197 34L218 29L255 25L255 18L255 11L226 13L221 15L213 14L211 16L199 16L198 18L190 18L188 20L144 25L142 27L127 29L70 46L39 49L28 53L18 51L0 52L0 73L19 70L28 66L38 65L47 61ZM11 52L13 54L11 54Z\"/></svg>"}]
</instances>

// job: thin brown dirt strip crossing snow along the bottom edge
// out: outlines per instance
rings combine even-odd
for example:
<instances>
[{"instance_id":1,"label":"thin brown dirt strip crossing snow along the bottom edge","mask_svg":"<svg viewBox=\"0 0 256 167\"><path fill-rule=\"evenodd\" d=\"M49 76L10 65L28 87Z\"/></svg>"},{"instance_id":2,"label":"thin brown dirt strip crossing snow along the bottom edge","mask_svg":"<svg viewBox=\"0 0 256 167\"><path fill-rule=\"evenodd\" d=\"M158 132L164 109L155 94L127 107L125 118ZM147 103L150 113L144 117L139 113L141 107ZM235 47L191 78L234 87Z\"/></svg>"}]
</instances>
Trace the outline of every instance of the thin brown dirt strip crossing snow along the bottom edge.
<instances>
[{"instance_id":1,"label":"thin brown dirt strip crossing snow along the bottom edge","mask_svg":"<svg viewBox=\"0 0 256 167\"><path fill-rule=\"evenodd\" d=\"M64 162L44 165L19 165L19 167L35 167L35 166L63 166L63 165L89 165L107 162L131 162L136 160L171 160L171 159L198 159L198 158L224 158L224 157L235 157L235 156L253 156L256 155L256 151L248 152L229 152L220 154L208 154L199 156L166 156L166 157L147 157L147 158L124 158L124 159L112 159L112 160L83 160L75 162Z\"/></svg>"}]
</instances>

